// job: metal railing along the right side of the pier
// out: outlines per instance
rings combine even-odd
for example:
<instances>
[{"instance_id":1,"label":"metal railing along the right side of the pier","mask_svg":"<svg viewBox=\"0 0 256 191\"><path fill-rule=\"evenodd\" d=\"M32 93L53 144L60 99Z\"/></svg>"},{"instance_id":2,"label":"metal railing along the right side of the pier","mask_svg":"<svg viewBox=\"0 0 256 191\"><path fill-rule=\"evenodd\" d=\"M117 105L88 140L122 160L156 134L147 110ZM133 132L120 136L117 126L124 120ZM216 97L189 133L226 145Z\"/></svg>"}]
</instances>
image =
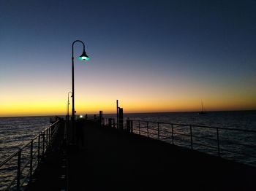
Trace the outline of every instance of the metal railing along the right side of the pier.
<instances>
[{"instance_id":1,"label":"metal railing along the right side of the pier","mask_svg":"<svg viewBox=\"0 0 256 191\"><path fill-rule=\"evenodd\" d=\"M114 119L105 124L116 128ZM124 130L256 166L256 130L127 120Z\"/></svg>"}]
</instances>

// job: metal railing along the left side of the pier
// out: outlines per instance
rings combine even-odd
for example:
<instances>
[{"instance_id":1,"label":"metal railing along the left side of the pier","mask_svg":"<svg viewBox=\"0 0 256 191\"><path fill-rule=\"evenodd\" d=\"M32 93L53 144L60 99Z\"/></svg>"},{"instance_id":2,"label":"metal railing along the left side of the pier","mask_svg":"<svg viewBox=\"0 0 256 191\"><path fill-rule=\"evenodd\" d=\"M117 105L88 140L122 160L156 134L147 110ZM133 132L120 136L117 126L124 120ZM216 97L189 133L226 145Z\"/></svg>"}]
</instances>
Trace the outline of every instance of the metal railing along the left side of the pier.
<instances>
[{"instance_id":1,"label":"metal railing along the left side of the pier","mask_svg":"<svg viewBox=\"0 0 256 191\"><path fill-rule=\"evenodd\" d=\"M57 120L0 163L0 190L21 190L51 146L60 121Z\"/></svg>"}]
</instances>

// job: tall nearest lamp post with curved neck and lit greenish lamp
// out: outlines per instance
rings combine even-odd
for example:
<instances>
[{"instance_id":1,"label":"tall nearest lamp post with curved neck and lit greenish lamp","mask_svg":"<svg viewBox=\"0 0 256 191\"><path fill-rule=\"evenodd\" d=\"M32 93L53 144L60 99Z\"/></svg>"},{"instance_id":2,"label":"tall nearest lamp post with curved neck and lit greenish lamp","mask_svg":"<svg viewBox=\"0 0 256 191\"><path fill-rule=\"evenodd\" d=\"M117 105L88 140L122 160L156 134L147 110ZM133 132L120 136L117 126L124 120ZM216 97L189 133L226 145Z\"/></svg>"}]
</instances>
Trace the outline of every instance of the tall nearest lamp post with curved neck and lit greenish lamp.
<instances>
[{"instance_id":1,"label":"tall nearest lamp post with curved neck and lit greenish lamp","mask_svg":"<svg viewBox=\"0 0 256 191\"><path fill-rule=\"evenodd\" d=\"M72 142L74 143L75 141L75 87L74 87L74 44L75 42L80 42L83 44L83 53L82 55L79 56L79 59L81 61L89 61L90 58L88 55L86 55L85 51L85 45L82 41L80 40L75 40L72 43L72 117L71 117L71 122L72 122Z\"/></svg>"}]
</instances>

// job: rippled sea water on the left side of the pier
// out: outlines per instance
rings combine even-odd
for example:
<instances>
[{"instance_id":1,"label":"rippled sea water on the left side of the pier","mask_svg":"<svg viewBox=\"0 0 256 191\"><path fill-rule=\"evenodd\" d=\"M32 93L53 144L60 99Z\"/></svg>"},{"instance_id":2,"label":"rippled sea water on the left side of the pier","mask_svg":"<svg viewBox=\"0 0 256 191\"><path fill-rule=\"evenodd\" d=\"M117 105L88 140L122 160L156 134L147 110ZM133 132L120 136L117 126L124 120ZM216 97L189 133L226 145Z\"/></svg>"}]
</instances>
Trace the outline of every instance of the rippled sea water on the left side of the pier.
<instances>
[{"instance_id":1,"label":"rippled sea water on the left side of the pier","mask_svg":"<svg viewBox=\"0 0 256 191\"><path fill-rule=\"evenodd\" d=\"M50 125L50 117L0 117L0 163L26 142ZM22 152L22 161L28 158L29 147ZM14 179L17 171L17 156L0 168L0 190ZM28 172L26 168L24 172ZM15 190L15 187L11 187Z\"/></svg>"}]
</instances>

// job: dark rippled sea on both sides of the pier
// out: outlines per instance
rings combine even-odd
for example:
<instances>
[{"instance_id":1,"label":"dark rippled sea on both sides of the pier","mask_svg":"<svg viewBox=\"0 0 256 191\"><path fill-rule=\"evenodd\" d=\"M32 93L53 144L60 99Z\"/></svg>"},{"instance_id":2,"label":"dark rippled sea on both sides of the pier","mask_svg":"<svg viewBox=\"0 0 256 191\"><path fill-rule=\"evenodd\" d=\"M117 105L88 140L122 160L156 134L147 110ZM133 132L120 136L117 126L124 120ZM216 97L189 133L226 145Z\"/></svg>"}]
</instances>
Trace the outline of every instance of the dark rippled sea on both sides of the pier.
<instances>
[{"instance_id":1,"label":"dark rippled sea on both sides of the pier","mask_svg":"<svg viewBox=\"0 0 256 191\"><path fill-rule=\"evenodd\" d=\"M64 116L62 117L64 118ZM81 117L84 117L84 115L81 115ZM103 117L105 119L116 118L116 114L103 114ZM50 125L51 118L53 118L53 116L0 117L0 163L34 136L37 136L40 131L47 128ZM256 111L207 112L206 114L198 114L197 112L124 114L124 123L127 119L135 120L133 124L135 133L147 136L146 125L154 130L157 125L160 125L162 132L169 132L168 136L166 136L167 139L162 139L163 141L169 140L170 143L190 149L191 139L189 133L191 133L191 131L189 131L189 127L192 125L192 133L193 136L195 136L193 137L193 149L197 149L200 152L207 152L211 155L219 154L217 150L216 128L220 128L218 133L221 156L246 163L247 165L256 166ZM159 122L159 124L156 122ZM170 124L174 124L174 142L172 142L170 138ZM140 126L140 132L138 131L138 126ZM199 128L197 128L197 126L199 126ZM212 128L202 128L200 126ZM229 129L231 129L231 133ZM249 130L249 132L246 130ZM149 133L152 132L150 131ZM156 133L152 134L157 136ZM184 136L185 138L182 138L182 135L186 135ZM197 144L200 137L203 137L202 144ZM210 146L210 149L203 147L206 144ZM236 144L241 145L237 148L235 147ZM231 152L226 153L226 150ZM242 152L245 155L239 156L236 155L236 152ZM1 176L4 177L1 171L0 168L0 185L2 180Z\"/></svg>"}]
</instances>

